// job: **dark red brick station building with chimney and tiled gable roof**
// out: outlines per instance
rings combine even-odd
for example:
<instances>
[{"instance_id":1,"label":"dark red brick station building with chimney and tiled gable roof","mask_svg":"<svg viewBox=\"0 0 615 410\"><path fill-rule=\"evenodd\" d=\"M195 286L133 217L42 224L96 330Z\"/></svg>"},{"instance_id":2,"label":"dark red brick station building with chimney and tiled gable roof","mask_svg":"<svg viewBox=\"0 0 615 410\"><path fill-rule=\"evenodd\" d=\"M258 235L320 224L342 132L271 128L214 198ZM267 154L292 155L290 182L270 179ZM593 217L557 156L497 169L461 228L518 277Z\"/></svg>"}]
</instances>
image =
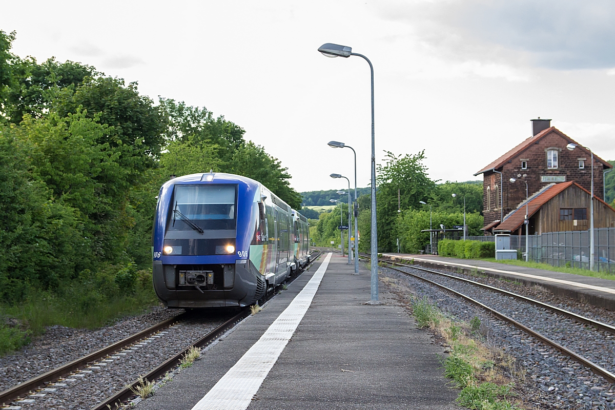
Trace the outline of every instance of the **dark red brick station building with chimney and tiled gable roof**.
<instances>
[{"instance_id":1,"label":"dark red brick station building with chimney and tiled gable roof","mask_svg":"<svg viewBox=\"0 0 615 410\"><path fill-rule=\"evenodd\" d=\"M549 184L574 181L587 191L592 185L592 154L569 136L550 126L549 119L534 119L533 135L474 175L483 175L485 232L498 231L502 219L525 202L525 180L530 197ZM577 144L573 151L569 143ZM593 193L604 200L604 173L613 168L593 156ZM520 179L515 183L510 178ZM530 234L533 229L530 227ZM525 231L524 231L525 232ZM516 233L516 232L515 232Z\"/></svg>"}]
</instances>

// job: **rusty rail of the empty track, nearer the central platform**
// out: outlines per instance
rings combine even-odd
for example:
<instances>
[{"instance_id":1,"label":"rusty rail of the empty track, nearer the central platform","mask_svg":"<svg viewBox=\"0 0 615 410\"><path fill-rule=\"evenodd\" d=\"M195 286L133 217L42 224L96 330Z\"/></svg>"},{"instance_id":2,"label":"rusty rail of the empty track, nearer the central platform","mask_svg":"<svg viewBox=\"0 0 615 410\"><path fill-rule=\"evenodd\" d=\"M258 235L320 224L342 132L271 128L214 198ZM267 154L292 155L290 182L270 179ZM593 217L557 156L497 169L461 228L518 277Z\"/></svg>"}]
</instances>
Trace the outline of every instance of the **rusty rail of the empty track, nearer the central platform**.
<instances>
[{"instance_id":1,"label":"rusty rail of the empty track, nearer the central platform","mask_svg":"<svg viewBox=\"0 0 615 410\"><path fill-rule=\"evenodd\" d=\"M365 256L365 257L368 258L367 256ZM369 259L371 259L371 258L369 258ZM389 261L382 260L382 262L388 263ZM448 291L450 293L453 293L453 294L459 296L462 299L466 299L467 301L471 302L472 304L475 304L475 305L477 305L479 307L482 307L482 309L486 310L487 312L490 312L495 317L498 317L498 318L500 318L503 321L507 321L508 323L514 325L516 328L521 329L525 333L530 334L530 336L534 337L535 339L538 339L543 344L546 344L546 345L548 345L550 347L553 347L555 350L557 350L558 352L563 353L564 355L570 357L572 360L576 361L577 363L581 363L581 365L589 368L594 374L597 374L598 376L604 377L606 380L609 381L609 383L615 383L615 374L609 372L608 370L606 370L602 366L597 365L596 363L593 363L592 361L582 357L581 355L577 354L576 352L573 352L572 350L567 349L566 347L563 347L562 345L558 344L557 342L552 341L551 339L549 339L548 337L542 335L541 333L538 333L537 331L534 331L534 330L528 328L527 326L522 325L517 320L514 320L513 318L507 317L506 315L504 315L504 313L500 313L500 312L498 312L498 310L495 310L492 307L486 306L485 304L483 304L481 302L478 302L477 300L472 299L469 296L466 296L465 294L462 294L462 293L460 293L460 292L458 292L456 290L448 288L447 286L440 285L440 283L434 282L432 280L429 280L427 278L421 277L419 275L411 274L410 272L405 272L404 270L397 269L395 267L390 267L390 266L387 266L387 267L389 269L397 270L397 272L401 272L402 274L410 275L412 277L421 279L424 282L431 283L434 286L438 286L438 288L442 288L443 290L446 290L446 291Z\"/></svg>"}]
</instances>

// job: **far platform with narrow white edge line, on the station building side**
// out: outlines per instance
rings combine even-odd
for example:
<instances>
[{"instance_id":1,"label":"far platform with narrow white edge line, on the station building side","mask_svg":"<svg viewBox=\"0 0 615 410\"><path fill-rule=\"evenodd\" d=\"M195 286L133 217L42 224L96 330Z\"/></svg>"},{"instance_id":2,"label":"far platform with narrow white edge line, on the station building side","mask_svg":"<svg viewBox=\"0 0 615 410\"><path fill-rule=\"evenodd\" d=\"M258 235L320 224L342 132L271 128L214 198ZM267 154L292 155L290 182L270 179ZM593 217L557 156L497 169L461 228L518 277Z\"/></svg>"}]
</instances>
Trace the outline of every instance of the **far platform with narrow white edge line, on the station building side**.
<instances>
[{"instance_id":1,"label":"far platform with narrow white edge line, on the station building side","mask_svg":"<svg viewBox=\"0 0 615 410\"><path fill-rule=\"evenodd\" d=\"M535 269L477 259L444 258L437 255L407 253L384 253L383 256L392 259L413 259L415 263L425 267L448 270L462 269L466 273L478 270L491 277L515 280L526 286L539 286L551 293L566 298L573 298L593 306L615 310L615 280L565 274L554 272L553 270Z\"/></svg>"}]
</instances>

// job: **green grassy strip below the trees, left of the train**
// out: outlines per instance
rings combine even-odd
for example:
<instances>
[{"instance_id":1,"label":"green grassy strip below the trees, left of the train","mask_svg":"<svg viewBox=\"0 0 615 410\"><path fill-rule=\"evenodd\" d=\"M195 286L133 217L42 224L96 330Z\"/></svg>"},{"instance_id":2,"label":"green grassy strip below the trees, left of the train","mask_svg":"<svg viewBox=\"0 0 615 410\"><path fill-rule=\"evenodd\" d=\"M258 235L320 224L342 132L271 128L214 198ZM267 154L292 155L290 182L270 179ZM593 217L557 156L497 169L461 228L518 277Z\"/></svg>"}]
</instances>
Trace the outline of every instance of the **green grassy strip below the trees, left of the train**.
<instances>
[{"instance_id":1,"label":"green grassy strip below the trees, left of the train","mask_svg":"<svg viewBox=\"0 0 615 410\"><path fill-rule=\"evenodd\" d=\"M94 329L157 304L149 272L138 271L129 283L97 279L53 292L30 286L22 303L0 304L0 355L30 343L47 326Z\"/></svg>"}]
</instances>

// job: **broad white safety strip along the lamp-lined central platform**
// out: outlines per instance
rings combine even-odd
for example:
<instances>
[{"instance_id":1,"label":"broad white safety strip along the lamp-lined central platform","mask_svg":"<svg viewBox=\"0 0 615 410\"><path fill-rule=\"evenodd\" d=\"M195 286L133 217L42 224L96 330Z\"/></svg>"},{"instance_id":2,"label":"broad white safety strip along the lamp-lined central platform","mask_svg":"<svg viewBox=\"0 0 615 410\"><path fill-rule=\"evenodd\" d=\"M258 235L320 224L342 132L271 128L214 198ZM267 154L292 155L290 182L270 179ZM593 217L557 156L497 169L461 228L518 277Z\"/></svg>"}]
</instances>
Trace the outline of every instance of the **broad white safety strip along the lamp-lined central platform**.
<instances>
[{"instance_id":1,"label":"broad white safety strip along the lamp-lined central platform","mask_svg":"<svg viewBox=\"0 0 615 410\"><path fill-rule=\"evenodd\" d=\"M331 253L328 253L284 312L192 410L245 410L248 407L308 311L330 259Z\"/></svg>"}]
</instances>

